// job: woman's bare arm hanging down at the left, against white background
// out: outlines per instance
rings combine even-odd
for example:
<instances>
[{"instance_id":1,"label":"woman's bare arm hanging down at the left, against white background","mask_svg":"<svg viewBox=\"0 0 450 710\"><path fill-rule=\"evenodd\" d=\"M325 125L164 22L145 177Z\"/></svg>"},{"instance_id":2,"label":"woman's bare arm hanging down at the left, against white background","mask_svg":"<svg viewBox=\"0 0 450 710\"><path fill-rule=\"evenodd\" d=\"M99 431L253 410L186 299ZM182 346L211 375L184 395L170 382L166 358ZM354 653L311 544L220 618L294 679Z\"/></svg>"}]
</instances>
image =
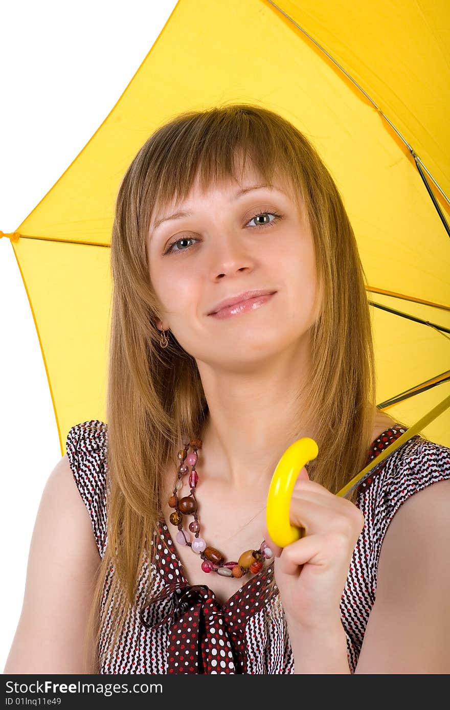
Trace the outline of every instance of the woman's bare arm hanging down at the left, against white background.
<instances>
[{"instance_id":1,"label":"woman's bare arm hanging down at the left, against white background","mask_svg":"<svg viewBox=\"0 0 450 710\"><path fill-rule=\"evenodd\" d=\"M101 559L67 454L45 485L31 539L21 617L7 673L84 670L82 645Z\"/></svg>"}]
</instances>

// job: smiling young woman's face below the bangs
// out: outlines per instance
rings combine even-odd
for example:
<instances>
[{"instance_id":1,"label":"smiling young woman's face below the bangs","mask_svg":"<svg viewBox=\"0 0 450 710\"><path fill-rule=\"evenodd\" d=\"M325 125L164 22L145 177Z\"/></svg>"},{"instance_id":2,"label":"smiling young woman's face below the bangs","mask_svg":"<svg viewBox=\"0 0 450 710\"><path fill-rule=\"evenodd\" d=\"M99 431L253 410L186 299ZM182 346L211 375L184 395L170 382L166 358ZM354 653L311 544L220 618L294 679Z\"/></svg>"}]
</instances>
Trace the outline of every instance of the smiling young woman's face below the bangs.
<instances>
[{"instance_id":1,"label":"smiling young woman's face below the bangs","mask_svg":"<svg viewBox=\"0 0 450 710\"><path fill-rule=\"evenodd\" d=\"M285 180L248 190L261 182L248 168L239 183L204 193L196 183L185 202L153 214L146 244L165 329L197 361L233 371L304 343L318 315L307 215ZM185 216L157 224L175 212ZM218 302L258 289L276 293L231 317L209 315Z\"/></svg>"}]
</instances>

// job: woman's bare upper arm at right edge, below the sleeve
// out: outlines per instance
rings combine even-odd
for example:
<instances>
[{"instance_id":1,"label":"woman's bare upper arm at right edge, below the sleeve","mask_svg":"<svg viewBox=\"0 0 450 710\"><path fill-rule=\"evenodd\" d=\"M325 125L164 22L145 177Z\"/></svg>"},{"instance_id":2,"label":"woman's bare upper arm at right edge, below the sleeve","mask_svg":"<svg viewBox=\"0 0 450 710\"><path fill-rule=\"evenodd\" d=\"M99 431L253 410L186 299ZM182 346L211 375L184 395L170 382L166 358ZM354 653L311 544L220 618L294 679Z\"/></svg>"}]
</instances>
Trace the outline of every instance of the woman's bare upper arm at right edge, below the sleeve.
<instances>
[{"instance_id":1,"label":"woman's bare upper arm at right edge, below the sleeve","mask_svg":"<svg viewBox=\"0 0 450 710\"><path fill-rule=\"evenodd\" d=\"M450 672L450 480L407 498L378 562L356 673Z\"/></svg>"}]
</instances>

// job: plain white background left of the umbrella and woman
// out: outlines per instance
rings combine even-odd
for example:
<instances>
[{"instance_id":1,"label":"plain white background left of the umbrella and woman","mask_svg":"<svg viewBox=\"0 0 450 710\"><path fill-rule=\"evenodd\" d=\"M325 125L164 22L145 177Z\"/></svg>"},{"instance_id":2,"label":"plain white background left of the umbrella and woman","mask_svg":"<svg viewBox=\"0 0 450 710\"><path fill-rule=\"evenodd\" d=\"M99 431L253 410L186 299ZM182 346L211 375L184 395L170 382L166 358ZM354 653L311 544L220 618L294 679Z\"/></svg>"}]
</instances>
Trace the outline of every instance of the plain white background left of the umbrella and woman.
<instances>
[{"instance_id":1,"label":"plain white background left of the umbrella and woman","mask_svg":"<svg viewBox=\"0 0 450 710\"><path fill-rule=\"evenodd\" d=\"M14 0L1 6L0 230L15 231L114 107L176 0ZM0 670L60 443L11 242L0 239ZM48 579L48 584L52 580Z\"/></svg>"}]
</instances>

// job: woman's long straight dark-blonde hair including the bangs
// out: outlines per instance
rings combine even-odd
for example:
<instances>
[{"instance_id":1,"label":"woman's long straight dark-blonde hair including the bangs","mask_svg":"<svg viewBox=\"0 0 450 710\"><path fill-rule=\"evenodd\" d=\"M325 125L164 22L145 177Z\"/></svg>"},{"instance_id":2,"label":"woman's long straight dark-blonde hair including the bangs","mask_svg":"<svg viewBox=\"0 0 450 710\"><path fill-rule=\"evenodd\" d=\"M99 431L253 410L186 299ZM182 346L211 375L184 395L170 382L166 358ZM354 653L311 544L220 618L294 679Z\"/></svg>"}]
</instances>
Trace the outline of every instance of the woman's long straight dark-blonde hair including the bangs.
<instances>
[{"instance_id":1,"label":"woman's long straight dark-blonde hair including the bangs","mask_svg":"<svg viewBox=\"0 0 450 710\"><path fill-rule=\"evenodd\" d=\"M208 413L195 359L171 333L168 347L159 345L160 303L146 254L150 219L174 197L185 199L197 176L202 189L238 180L236 155L243 165L249 158L268 185L280 170L301 195L312 230L321 307L310 333L307 402L320 454L307 466L309 477L336 493L366 464L376 414L371 315L355 235L333 178L312 143L268 109L233 104L175 116L138 151L116 198L106 402L108 545L87 627L87 672L97 665L106 614L115 645L136 603L143 557L151 569L148 541L162 517L162 472L172 462L175 481L176 452L185 440L202 438ZM295 431L294 421L292 440ZM356 492L349 499L355 502ZM95 657L87 660L89 649Z\"/></svg>"}]
</instances>

